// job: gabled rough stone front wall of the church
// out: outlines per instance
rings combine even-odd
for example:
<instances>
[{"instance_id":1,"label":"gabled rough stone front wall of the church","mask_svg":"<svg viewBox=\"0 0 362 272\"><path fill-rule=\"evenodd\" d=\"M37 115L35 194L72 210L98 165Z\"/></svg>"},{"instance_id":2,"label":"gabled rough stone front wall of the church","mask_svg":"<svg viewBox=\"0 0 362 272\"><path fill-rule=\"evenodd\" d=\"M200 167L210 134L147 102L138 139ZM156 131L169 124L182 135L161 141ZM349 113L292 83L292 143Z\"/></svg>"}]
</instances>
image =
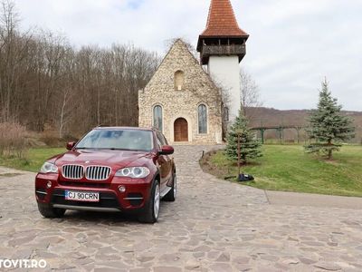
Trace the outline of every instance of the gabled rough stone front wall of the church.
<instances>
[{"instance_id":1,"label":"gabled rough stone front wall of the church","mask_svg":"<svg viewBox=\"0 0 362 272\"><path fill-rule=\"evenodd\" d=\"M177 71L185 73L181 91L175 89ZM199 134L197 129L197 107L201 103L207 107L208 125L205 134ZM162 106L163 132L168 141L174 141L176 119L185 118L188 123L188 141L222 142L221 94L181 40L172 46L145 90L138 93L140 127L152 126L155 105Z\"/></svg>"}]
</instances>

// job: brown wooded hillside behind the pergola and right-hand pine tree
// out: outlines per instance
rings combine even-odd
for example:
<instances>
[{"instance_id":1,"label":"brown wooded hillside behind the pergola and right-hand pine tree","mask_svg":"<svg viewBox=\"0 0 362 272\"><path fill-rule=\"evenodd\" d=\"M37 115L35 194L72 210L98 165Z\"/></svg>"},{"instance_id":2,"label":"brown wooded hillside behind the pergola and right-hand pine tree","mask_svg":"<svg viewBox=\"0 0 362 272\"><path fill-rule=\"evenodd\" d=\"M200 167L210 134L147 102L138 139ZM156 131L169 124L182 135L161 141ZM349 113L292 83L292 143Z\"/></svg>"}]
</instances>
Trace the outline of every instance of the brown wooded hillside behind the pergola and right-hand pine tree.
<instances>
[{"instance_id":1,"label":"brown wooded hillside behind the pergola and right-hand pine tree","mask_svg":"<svg viewBox=\"0 0 362 272\"><path fill-rule=\"evenodd\" d=\"M252 127L277 127L277 126L306 126L307 117L310 110L288 110L281 111L272 108L249 108L246 115L250 119ZM362 143L362 112L343 112L350 116L357 127L356 138L352 141L354 143ZM297 133L295 130L284 131L284 140L296 141ZM279 139L277 131L267 131L266 139L274 140ZM301 132L301 140L305 140L305 133Z\"/></svg>"}]
</instances>

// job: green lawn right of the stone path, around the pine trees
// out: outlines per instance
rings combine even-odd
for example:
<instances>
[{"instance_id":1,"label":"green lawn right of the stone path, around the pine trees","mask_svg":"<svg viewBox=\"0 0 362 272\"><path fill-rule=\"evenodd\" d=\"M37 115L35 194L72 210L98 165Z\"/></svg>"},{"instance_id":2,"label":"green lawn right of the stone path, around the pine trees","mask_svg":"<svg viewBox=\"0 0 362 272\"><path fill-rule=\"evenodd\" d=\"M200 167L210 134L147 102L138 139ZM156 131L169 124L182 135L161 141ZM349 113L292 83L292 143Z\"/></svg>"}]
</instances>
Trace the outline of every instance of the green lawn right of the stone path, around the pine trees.
<instances>
[{"instance_id":1,"label":"green lawn right of the stone path, around the pine trees","mask_svg":"<svg viewBox=\"0 0 362 272\"><path fill-rule=\"evenodd\" d=\"M263 157L243 167L255 180L244 184L270 190L362 197L362 146L344 146L331 161L306 154L297 145L264 145ZM221 179L237 167L218 151L201 165Z\"/></svg>"}]
</instances>

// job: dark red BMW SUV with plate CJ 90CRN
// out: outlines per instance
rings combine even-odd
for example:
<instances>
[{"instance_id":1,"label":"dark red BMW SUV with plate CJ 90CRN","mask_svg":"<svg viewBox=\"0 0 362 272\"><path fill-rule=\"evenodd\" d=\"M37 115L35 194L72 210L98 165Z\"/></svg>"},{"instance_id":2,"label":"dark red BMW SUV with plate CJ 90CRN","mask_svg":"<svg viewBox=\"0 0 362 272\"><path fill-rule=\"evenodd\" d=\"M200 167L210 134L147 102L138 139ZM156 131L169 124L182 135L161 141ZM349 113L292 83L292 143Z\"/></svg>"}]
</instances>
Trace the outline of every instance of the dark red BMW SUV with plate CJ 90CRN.
<instances>
[{"instance_id":1,"label":"dark red BMW SUV with plate CJ 90CRN","mask_svg":"<svg viewBox=\"0 0 362 272\"><path fill-rule=\"evenodd\" d=\"M66 209L136 211L140 221L154 223L160 199L176 198L174 149L160 131L96 128L67 149L35 178L45 218L62 217Z\"/></svg>"}]
</instances>

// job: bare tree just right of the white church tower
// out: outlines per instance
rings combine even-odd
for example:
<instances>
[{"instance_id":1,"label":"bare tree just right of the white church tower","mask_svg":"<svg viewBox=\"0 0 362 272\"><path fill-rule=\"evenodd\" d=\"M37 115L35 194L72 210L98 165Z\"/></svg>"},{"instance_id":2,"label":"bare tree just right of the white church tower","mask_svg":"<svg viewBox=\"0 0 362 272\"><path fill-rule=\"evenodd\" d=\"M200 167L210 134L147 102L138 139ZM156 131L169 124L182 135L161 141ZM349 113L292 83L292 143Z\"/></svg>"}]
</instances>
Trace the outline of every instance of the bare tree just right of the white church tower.
<instances>
[{"instance_id":1,"label":"bare tree just right of the white church tower","mask_svg":"<svg viewBox=\"0 0 362 272\"><path fill-rule=\"evenodd\" d=\"M262 106L259 86L252 79L252 75L246 73L243 69L240 70L240 83L243 115L251 119L251 112L248 109Z\"/></svg>"}]
</instances>

